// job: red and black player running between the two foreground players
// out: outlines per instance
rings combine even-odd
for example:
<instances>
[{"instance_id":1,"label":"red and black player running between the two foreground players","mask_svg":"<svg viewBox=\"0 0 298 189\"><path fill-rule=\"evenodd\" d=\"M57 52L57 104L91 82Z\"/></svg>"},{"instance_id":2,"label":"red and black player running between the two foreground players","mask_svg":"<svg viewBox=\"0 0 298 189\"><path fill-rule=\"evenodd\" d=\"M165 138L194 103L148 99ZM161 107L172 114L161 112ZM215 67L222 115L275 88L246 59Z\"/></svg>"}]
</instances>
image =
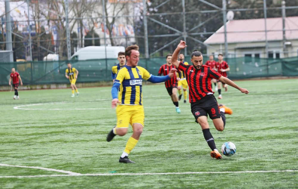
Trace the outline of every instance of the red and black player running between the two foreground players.
<instances>
[{"instance_id":1,"label":"red and black player running between the two foreground players","mask_svg":"<svg viewBox=\"0 0 298 189\"><path fill-rule=\"evenodd\" d=\"M172 68L176 69L176 67L171 63L171 59L172 59L172 54L167 54L167 56L166 56L167 63L162 65L159 68L158 76L161 76L162 74L168 75ZM180 80L180 78L181 78L180 75L181 75L181 72L179 72L179 78L177 78L176 74L174 74L173 78L164 82L167 92L171 96L173 104L176 106L177 113L181 112L181 110L179 109L178 96L177 96L177 85L178 85L177 80Z\"/></svg>"}]
</instances>

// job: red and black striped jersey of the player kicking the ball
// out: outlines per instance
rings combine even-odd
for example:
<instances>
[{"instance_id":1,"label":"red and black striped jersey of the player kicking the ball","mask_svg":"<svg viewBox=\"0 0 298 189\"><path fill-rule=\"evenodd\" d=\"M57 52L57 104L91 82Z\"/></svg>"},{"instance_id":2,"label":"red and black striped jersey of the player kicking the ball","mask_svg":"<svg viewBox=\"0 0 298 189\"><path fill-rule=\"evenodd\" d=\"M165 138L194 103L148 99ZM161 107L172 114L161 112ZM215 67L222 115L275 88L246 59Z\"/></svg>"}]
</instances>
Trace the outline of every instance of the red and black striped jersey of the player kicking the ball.
<instances>
[{"instance_id":1,"label":"red and black striped jersey of the player kicking the ball","mask_svg":"<svg viewBox=\"0 0 298 189\"><path fill-rule=\"evenodd\" d=\"M193 103L204 98L207 94L214 94L211 86L211 79L219 79L221 74L215 69L202 65L200 70L196 70L193 65L185 65L180 62L178 69L183 71L189 86L189 102Z\"/></svg>"}]
</instances>

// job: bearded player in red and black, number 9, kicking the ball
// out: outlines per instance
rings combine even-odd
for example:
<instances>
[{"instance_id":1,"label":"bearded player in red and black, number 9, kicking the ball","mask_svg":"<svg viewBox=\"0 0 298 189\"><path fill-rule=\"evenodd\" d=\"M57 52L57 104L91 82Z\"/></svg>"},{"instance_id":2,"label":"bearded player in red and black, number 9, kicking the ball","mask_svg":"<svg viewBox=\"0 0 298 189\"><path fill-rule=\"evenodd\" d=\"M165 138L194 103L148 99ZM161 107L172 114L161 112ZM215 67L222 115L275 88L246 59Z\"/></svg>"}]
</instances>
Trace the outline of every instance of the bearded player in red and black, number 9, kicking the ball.
<instances>
[{"instance_id":1,"label":"bearded player in red and black, number 9, kicking the ball","mask_svg":"<svg viewBox=\"0 0 298 189\"><path fill-rule=\"evenodd\" d=\"M218 131L223 131L226 123L225 113L232 114L232 110L223 105L218 106L211 88L211 79L218 79L245 94L248 94L248 90L240 88L233 81L222 76L211 67L203 65L203 55L201 52L194 51L191 54L190 61L193 65L184 65L178 61L178 54L185 47L187 47L185 41L181 40L173 53L172 64L185 73L189 86L191 111L195 117L195 121L200 124L204 138L212 150L210 152L211 157L221 159L221 154L218 152L214 138L209 130L207 114L212 119L215 128Z\"/></svg>"}]
</instances>

